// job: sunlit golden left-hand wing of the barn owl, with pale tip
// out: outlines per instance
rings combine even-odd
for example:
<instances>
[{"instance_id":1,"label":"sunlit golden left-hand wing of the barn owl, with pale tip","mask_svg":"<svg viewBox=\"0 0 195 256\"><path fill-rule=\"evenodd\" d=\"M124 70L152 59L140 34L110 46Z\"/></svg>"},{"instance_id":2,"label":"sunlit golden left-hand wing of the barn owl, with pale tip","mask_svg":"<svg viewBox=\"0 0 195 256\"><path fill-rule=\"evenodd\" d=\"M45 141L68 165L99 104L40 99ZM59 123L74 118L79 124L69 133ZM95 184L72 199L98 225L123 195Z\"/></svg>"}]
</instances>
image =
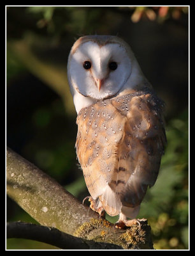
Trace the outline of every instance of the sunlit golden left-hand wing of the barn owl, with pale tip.
<instances>
[{"instance_id":1,"label":"sunlit golden left-hand wing of the barn owl, with pale tip","mask_svg":"<svg viewBox=\"0 0 195 256\"><path fill-rule=\"evenodd\" d=\"M76 123L76 154L83 170L85 183L95 200L104 195L105 211L117 215L122 204L110 184L117 168L117 145L122 140L126 118L122 118L110 100L83 108Z\"/></svg>"}]
</instances>

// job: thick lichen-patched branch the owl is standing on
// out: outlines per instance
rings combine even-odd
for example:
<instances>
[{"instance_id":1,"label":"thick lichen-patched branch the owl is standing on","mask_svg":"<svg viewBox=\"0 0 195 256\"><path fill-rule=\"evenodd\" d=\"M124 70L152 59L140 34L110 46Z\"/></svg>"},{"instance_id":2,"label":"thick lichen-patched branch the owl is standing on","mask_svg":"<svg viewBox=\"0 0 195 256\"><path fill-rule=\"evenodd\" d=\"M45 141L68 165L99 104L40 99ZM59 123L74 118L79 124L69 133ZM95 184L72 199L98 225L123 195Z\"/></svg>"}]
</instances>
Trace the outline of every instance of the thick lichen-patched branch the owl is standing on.
<instances>
[{"instance_id":1,"label":"thick lichen-patched branch the owl is standing on","mask_svg":"<svg viewBox=\"0 0 195 256\"><path fill-rule=\"evenodd\" d=\"M23 157L7 149L7 193L41 225L80 237L89 248L153 249L147 221L119 230L81 204L54 179ZM110 244L110 245L109 245ZM120 247L119 247L120 246Z\"/></svg>"}]
</instances>

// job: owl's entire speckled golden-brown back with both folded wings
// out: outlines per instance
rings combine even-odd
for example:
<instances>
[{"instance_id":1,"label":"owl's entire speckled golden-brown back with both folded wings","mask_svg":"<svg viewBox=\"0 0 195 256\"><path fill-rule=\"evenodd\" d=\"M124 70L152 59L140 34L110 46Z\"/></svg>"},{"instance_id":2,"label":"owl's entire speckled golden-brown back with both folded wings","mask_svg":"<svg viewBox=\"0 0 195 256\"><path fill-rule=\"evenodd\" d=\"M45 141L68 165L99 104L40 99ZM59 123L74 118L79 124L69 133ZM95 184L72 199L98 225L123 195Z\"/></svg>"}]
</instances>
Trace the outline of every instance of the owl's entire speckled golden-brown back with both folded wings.
<instances>
[{"instance_id":1,"label":"owl's entire speckled golden-brown back with both folded wings","mask_svg":"<svg viewBox=\"0 0 195 256\"><path fill-rule=\"evenodd\" d=\"M153 93L131 93L78 115L76 150L85 182L111 216L140 205L157 179L166 142L161 104Z\"/></svg>"}]
</instances>

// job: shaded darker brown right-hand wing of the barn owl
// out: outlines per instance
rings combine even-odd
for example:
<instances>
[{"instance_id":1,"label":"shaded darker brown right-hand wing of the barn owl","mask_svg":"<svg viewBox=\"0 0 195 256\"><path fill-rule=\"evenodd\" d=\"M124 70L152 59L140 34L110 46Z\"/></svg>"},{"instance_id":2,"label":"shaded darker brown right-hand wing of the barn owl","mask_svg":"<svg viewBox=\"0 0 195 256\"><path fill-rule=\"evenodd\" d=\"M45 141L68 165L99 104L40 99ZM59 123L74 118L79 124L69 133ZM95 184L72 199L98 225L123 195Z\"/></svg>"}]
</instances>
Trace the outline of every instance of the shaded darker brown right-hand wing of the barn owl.
<instances>
[{"instance_id":1,"label":"shaded darker brown right-hand wing of the barn owl","mask_svg":"<svg viewBox=\"0 0 195 256\"><path fill-rule=\"evenodd\" d=\"M119 172L113 175L116 181L112 186L116 193L120 193L122 205L126 207L140 205L147 187L154 185L166 143L163 102L152 93L134 95L137 96L112 102L127 118L117 152L120 157ZM126 111L122 110L124 108ZM119 180L122 185L117 188Z\"/></svg>"}]
</instances>

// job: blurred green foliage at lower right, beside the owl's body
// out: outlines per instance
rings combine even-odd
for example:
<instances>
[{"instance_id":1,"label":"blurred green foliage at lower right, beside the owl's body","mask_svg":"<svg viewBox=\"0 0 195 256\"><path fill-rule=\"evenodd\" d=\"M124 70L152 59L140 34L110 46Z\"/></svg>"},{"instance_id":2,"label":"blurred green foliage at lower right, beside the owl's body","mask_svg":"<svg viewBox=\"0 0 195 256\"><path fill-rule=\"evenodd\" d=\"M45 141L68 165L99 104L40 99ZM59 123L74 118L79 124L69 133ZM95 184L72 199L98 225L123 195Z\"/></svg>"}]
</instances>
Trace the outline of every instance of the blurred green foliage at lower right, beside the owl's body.
<instances>
[{"instance_id":1,"label":"blurred green foliage at lower right, beside the owl's body","mask_svg":"<svg viewBox=\"0 0 195 256\"><path fill-rule=\"evenodd\" d=\"M141 205L156 249L188 248L188 131L187 110L166 126L168 143L159 177Z\"/></svg>"}]
</instances>

